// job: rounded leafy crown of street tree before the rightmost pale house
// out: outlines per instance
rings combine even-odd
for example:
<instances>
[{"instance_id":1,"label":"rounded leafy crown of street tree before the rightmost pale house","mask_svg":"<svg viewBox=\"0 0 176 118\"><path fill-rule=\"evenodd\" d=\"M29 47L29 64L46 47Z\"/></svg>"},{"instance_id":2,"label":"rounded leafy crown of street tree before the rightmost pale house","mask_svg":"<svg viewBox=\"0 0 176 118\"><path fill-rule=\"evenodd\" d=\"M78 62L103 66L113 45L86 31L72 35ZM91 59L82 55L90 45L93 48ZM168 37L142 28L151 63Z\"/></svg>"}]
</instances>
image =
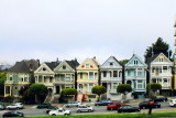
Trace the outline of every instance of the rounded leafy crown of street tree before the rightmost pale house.
<instances>
[{"instance_id":1,"label":"rounded leafy crown of street tree before the rightmost pale house","mask_svg":"<svg viewBox=\"0 0 176 118\"><path fill-rule=\"evenodd\" d=\"M146 85L146 89L150 92L150 90L153 90L154 93L162 89L162 85L158 84L158 83L150 83Z\"/></svg>"}]
</instances>

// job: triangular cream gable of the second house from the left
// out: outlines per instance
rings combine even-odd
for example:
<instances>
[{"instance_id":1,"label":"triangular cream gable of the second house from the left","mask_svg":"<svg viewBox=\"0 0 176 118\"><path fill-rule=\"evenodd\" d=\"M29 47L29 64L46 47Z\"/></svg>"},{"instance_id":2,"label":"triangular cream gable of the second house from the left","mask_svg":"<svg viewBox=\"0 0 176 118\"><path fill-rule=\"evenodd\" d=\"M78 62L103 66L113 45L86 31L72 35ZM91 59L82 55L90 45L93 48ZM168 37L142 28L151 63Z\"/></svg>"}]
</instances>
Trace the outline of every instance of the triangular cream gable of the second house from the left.
<instances>
[{"instance_id":1,"label":"triangular cream gable of the second house from the left","mask_svg":"<svg viewBox=\"0 0 176 118\"><path fill-rule=\"evenodd\" d=\"M45 63L43 63L35 72L36 73L54 73Z\"/></svg>"}]
</instances>

